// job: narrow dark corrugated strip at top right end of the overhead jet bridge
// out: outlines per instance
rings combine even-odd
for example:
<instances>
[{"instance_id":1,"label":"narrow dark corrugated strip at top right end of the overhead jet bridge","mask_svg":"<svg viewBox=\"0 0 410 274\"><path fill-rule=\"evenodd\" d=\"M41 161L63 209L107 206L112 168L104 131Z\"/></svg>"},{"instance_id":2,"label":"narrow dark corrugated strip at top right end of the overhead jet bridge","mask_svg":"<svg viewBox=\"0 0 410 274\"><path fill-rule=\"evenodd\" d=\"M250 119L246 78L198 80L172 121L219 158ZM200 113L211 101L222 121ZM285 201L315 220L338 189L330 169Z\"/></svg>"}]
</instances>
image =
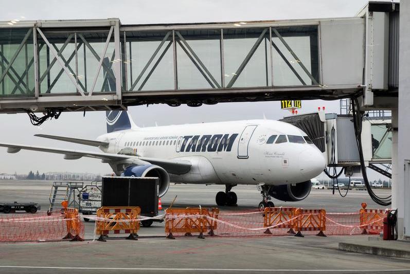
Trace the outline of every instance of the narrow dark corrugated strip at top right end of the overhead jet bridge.
<instances>
[{"instance_id":1,"label":"narrow dark corrugated strip at top right end of the overhead jet bridge","mask_svg":"<svg viewBox=\"0 0 410 274\"><path fill-rule=\"evenodd\" d=\"M389 15L388 87L399 88L399 12Z\"/></svg>"}]
</instances>

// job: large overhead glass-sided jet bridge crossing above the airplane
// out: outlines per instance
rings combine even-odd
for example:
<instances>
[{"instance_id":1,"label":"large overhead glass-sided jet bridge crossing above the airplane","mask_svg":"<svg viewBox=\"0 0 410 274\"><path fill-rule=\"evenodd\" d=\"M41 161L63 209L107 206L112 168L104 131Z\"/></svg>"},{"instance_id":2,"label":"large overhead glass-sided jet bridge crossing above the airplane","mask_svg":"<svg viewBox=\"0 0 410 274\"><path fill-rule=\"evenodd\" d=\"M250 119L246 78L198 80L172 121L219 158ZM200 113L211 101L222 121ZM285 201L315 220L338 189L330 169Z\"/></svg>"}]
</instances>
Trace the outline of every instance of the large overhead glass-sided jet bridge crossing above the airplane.
<instances>
[{"instance_id":1,"label":"large overhead glass-sided jet bridge crossing above the airplane","mask_svg":"<svg viewBox=\"0 0 410 274\"><path fill-rule=\"evenodd\" d=\"M389 59L388 33L379 28L389 26L385 14L366 8L356 17L312 20L0 22L0 112L358 93L371 104L372 90L388 92L391 86L384 75L395 56Z\"/></svg>"}]
</instances>

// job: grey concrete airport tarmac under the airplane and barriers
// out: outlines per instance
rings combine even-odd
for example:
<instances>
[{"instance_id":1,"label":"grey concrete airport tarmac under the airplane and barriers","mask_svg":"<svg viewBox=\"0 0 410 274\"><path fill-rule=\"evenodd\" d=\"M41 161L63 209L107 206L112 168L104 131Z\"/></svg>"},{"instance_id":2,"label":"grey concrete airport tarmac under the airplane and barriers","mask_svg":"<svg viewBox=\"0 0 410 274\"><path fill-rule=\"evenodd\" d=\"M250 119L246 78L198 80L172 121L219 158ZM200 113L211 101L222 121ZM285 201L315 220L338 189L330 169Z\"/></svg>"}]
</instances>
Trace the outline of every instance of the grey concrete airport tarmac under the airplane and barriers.
<instances>
[{"instance_id":1,"label":"grey concrete airport tarmac under the airplane and barriers","mask_svg":"<svg viewBox=\"0 0 410 274\"><path fill-rule=\"evenodd\" d=\"M0 202L37 202L48 208L50 181L0 181ZM167 207L215 206L215 194L224 186L171 185L162 198ZM256 209L260 194L255 186L234 188L237 207ZM337 190L336 190L337 191ZM389 195L388 190L376 190ZM324 208L327 212L357 212L360 204L380 208L365 191L342 198L331 190L312 190L297 203L274 200L275 206ZM3 213L0 213L0 217ZM0 273L410 273L410 259L340 250L339 243L372 244L368 235L261 236L165 239L164 224L141 228L138 241L92 241L94 222L85 223L87 241L0 244ZM377 239L372 236L371 239ZM380 241L383 242L383 241ZM408 245L407 243L401 243Z\"/></svg>"}]
</instances>

